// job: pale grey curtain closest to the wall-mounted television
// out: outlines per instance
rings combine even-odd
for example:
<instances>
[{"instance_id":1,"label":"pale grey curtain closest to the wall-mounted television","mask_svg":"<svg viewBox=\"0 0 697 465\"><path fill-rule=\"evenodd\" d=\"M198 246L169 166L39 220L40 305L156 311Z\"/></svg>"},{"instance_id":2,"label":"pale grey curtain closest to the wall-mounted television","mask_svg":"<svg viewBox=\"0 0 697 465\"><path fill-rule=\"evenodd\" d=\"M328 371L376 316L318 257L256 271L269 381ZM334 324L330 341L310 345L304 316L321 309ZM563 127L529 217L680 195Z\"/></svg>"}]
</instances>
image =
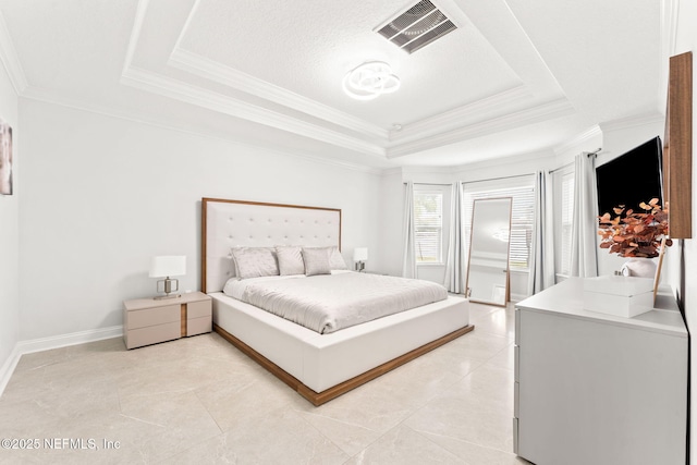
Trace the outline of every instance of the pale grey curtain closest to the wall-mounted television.
<instances>
[{"instance_id":1,"label":"pale grey curtain closest to the wall-mounted television","mask_svg":"<svg viewBox=\"0 0 697 465\"><path fill-rule=\"evenodd\" d=\"M574 169L574 216L571 236L571 276L598 276L598 209L595 154L576 156Z\"/></svg>"}]
</instances>

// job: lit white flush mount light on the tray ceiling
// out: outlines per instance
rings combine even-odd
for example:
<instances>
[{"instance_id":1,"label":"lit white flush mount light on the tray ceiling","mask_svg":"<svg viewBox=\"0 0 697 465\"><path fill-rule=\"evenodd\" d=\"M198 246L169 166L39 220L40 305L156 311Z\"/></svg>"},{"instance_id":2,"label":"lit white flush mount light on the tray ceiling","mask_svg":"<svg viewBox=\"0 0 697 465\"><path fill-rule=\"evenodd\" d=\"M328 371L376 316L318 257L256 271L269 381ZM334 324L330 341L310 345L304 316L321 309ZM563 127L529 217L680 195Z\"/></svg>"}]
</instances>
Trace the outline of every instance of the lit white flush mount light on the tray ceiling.
<instances>
[{"instance_id":1,"label":"lit white flush mount light on the tray ceiling","mask_svg":"<svg viewBox=\"0 0 697 465\"><path fill-rule=\"evenodd\" d=\"M400 78L383 61L368 61L346 73L343 81L346 95L356 100L372 100L400 88Z\"/></svg>"}]
</instances>

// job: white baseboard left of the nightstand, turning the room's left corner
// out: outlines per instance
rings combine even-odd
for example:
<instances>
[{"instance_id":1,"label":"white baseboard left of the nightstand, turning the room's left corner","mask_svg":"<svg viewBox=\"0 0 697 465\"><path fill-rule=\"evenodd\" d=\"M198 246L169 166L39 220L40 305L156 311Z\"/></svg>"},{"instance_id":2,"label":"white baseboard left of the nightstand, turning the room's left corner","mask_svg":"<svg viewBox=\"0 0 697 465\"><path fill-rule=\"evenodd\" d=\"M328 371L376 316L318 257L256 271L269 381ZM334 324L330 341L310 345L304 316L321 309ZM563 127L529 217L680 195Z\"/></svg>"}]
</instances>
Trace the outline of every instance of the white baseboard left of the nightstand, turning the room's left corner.
<instances>
[{"instance_id":1,"label":"white baseboard left of the nightstand, turning the room's left corner","mask_svg":"<svg viewBox=\"0 0 697 465\"><path fill-rule=\"evenodd\" d=\"M101 341L103 339L120 338L123 335L123 326L91 329L88 331L71 332L69 334L54 335L51 338L32 339L20 341L15 344L2 368L0 368L0 395L8 386L14 369L24 354L34 352L50 351L51 348L66 347L69 345L84 344L86 342Z\"/></svg>"}]
</instances>

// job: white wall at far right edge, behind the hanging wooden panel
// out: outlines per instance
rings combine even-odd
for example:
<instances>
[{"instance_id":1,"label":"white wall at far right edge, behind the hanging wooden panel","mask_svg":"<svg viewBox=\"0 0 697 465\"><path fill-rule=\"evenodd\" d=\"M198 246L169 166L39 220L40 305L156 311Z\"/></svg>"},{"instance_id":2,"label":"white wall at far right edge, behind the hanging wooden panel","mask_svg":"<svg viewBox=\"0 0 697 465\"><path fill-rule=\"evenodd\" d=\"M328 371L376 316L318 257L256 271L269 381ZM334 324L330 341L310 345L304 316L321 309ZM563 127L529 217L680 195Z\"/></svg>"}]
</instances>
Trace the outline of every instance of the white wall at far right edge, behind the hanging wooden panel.
<instances>
[{"instance_id":1,"label":"white wall at far right edge, behind the hanging wooden panel","mask_svg":"<svg viewBox=\"0 0 697 465\"><path fill-rule=\"evenodd\" d=\"M677 35L676 47L674 54L685 51L693 52L693 66L697 63L697 2L683 0L680 2L680 14L677 19ZM668 63L665 64L668 66ZM697 172L697 163L695 163L695 155L697 155L697 118L695 118L695 111L697 109L697 69L693 68L693 236L697 234L697 180L695 173ZM673 278L672 283L680 289L681 297L683 301L683 307L685 308L685 315L687 319L687 328L689 332L694 334L697 328L697 247L695 246L695 240L685 240L684 256L682 264L684 264L682 281ZM674 268L674 267L673 267ZM690 431L690 458L693 463L697 463L697 344L692 345L692 431Z\"/></svg>"}]
</instances>

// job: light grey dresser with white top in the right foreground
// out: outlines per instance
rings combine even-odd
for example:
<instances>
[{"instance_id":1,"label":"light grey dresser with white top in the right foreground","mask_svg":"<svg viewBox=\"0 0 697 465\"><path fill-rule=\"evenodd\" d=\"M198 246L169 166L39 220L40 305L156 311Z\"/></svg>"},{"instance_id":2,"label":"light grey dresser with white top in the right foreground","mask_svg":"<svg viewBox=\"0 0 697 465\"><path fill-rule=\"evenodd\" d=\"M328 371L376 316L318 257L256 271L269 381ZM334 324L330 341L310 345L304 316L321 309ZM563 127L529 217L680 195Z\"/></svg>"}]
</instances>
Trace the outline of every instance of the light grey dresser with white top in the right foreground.
<instances>
[{"instance_id":1,"label":"light grey dresser with white top in the right foreground","mask_svg":"<svg viewBox=\"0 0 697 465\"><path fill-rule=\"evenodd\" d=\"M584 310L572 278L516 305L514 449L537 465L685 464L687 330L669 293Z\"/></svg>"}]
</instances>

